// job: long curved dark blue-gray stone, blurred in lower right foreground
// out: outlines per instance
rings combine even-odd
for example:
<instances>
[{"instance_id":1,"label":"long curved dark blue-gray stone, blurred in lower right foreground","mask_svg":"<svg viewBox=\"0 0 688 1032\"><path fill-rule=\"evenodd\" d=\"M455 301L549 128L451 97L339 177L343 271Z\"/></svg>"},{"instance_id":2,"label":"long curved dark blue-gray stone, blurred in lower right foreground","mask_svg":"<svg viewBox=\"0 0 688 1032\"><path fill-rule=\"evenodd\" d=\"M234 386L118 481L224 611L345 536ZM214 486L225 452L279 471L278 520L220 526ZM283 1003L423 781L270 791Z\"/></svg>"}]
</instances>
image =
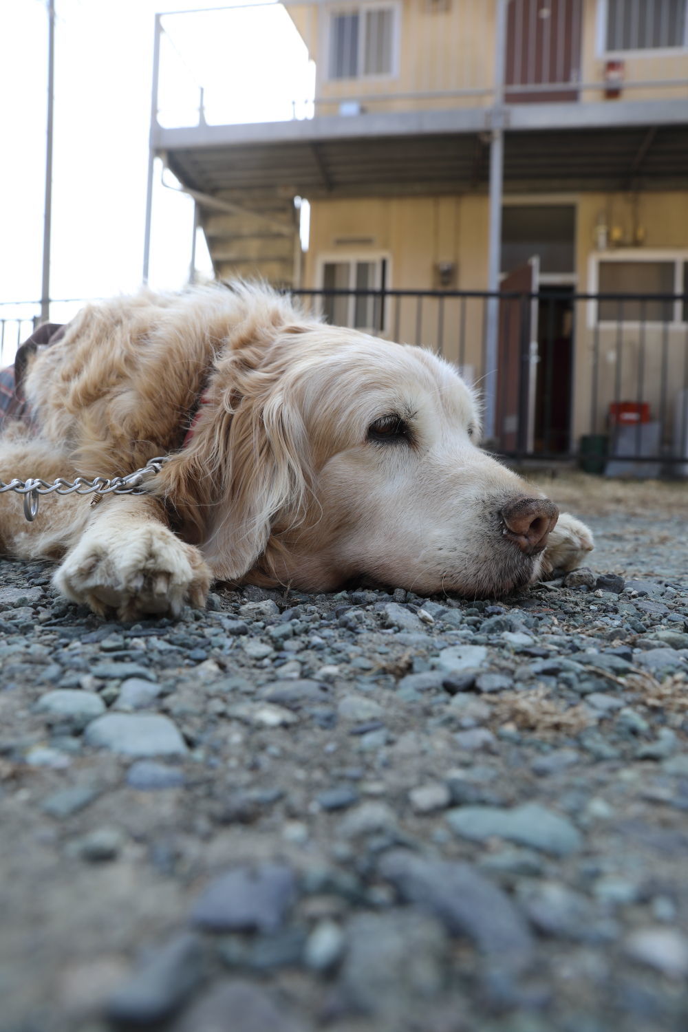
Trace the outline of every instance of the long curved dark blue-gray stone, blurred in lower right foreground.
<instances>
[{"instance_id":1,"label":"long curved dark blue-gray stone, blurred in lower right foreground","mask_svg":"<svg viewBox=\"0 0 688 1032\"><path fill-rule=\"evenodd\" d=\"M385 853L380 873L407 903L437 916L452 935L466 935L512 969L527 967L533 941L509 896L470 864L431 861L406 849Z\"/></svg>"}]
</instances>

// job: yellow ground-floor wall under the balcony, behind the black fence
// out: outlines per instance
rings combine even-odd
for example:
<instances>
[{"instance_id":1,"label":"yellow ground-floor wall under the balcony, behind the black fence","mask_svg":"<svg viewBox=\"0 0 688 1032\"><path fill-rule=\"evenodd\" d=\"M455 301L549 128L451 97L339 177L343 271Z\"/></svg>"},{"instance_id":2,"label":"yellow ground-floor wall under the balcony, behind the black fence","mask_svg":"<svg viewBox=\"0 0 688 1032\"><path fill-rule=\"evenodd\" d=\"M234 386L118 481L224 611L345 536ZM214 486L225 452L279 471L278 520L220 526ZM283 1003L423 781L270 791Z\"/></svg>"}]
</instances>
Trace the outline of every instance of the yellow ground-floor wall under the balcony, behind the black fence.
<instances>
[{"instance_id":1,"label":"yellow ground-floor wall under the balcony, behind the black fence","mask_svg":"<svg viewBox=\"0 0 688 1032\"><path fill-rule=\"evenodd\" d=\"M630 253L643 257L657 251L688 252L688 192L632 195L580 194L577 205L577 289L586 293L590 256L595 253L595 227L603 216L619 228L621 243L630 245L634 228L645 233L645 243ZM524 199L525 202L525 199ZM535 197L527 202L536 203ZM389 258L388 287L400 290L432 290L437 287L436 263L456 263L454 289L481 291L487 286L488 201L484 196L392 197L350 200L319 200L312 205L310 246L304 263L304 285L320 287L319 258L336 260L366 254ZM360 243L361 239L369 243ZM358 240L359 243L352 243ZM612 249L610 253L615 253ZM484 336L482 298L424 298L419 311L415 298L388 303L386 335L422 343L441 351L450 360L480 374ZM623 397L637 395L638 370L645 379L646 399L658 414L661 354L666 341L666 361L671 385L683 385L687 373L686 330L648 326L641 335L636 327L595 330L589 325L589 305L579 301L575 344L575 438L603 428L609 401L617 383ZM619 374L619 349L621 372ZM593 366L598 369L595 427L591 426ZM678 388L677 388L678 389ZM675 388L671 388L675 391ZM673 398L666 398L664 419L671 418Z\"/></svg>"}]
</instances>

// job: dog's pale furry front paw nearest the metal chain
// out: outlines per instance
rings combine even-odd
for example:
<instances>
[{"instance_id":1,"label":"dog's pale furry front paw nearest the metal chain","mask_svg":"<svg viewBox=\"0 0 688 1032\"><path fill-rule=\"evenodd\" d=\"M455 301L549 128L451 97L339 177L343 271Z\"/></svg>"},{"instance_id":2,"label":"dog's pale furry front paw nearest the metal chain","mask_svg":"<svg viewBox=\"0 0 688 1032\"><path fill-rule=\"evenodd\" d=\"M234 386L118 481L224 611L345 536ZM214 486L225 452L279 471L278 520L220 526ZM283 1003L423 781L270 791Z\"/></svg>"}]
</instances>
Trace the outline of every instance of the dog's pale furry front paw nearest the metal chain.
<instances>
[{"instance_id":1,"label":"dog's pale furry front paw nearest the metal chain","mask_svg":"<svg viewBox=\"0 0 688 1032\"><path fill-rule=\"evenodd\" d=\"M144 523L128 533L93 526L54 577L72 602L122 620L155 613L178 616L185 604L205 603L211 574L198 549L166 526Z\"/></svg>"}]
</instances>

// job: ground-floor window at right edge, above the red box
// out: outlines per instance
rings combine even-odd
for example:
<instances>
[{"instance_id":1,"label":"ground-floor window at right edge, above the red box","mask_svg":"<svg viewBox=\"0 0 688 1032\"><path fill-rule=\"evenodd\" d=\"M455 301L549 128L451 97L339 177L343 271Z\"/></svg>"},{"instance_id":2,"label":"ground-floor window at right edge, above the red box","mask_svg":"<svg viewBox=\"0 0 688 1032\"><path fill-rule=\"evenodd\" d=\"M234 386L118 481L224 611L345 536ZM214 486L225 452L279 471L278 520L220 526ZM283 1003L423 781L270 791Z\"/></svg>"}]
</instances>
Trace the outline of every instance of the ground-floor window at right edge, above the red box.
<instances>
[{"instance_id":1,"label":"ground-floor window at right edge, above the red box","mask_svg":"<svg viewBox=\"0 0 688 1032\"><path fill-rule=\"evenodd\" d=\"M688 253L655 252L654 256L594 257L592 289L620 294L597 302L600 323L682 323L688 321L688 300L645 295L679 295L688 287ZM642 295L642 296L641 296ZM628 299L626 299L626 296Z\"/></svg>"}]
</instances>

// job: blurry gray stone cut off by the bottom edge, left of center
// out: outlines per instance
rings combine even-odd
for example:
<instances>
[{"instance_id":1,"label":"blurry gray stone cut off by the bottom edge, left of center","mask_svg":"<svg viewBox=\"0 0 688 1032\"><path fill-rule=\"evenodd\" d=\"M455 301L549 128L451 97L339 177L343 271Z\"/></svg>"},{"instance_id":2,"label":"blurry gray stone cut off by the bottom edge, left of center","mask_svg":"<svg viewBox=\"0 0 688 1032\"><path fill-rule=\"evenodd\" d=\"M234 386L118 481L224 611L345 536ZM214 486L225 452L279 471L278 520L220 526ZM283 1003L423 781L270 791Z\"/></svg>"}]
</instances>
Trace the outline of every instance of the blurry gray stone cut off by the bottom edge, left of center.
<instances>
[{"instance_id":1,"label":"blurry gray stone cut off by the bottom edge, left of center","mask_svg":"<svg viewBox=\"0 0 688 1032\"><path fill-rule=\"evenodd\" d=\"M263 987L228 978L201 995L171 1032L310 1032L312 1028L302 1018L292 1018L284 1000L273 999Z\"/></svg>"}]
</instances>

